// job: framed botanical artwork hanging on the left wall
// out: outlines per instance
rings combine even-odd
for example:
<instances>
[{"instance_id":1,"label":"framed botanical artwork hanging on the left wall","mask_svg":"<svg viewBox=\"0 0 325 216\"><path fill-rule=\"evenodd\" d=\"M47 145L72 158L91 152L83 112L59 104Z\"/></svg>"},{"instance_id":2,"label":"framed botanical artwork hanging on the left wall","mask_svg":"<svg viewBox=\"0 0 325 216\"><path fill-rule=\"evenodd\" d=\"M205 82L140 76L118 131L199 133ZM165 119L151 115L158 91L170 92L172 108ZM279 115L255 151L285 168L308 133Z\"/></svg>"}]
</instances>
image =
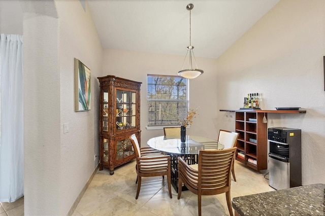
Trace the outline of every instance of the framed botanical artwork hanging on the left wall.
<instances>
[{"instance_id":1,"label":"framed botanical artwork hanging on the left wall","mask_svg":"<svg viewBox=\"0 0 325 216\"><path fill-rule=\"evenodd\" d=\"M90 69L75 58L75 112L90 110Z\"/></svg>"}]
</instances>

